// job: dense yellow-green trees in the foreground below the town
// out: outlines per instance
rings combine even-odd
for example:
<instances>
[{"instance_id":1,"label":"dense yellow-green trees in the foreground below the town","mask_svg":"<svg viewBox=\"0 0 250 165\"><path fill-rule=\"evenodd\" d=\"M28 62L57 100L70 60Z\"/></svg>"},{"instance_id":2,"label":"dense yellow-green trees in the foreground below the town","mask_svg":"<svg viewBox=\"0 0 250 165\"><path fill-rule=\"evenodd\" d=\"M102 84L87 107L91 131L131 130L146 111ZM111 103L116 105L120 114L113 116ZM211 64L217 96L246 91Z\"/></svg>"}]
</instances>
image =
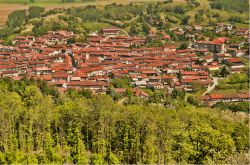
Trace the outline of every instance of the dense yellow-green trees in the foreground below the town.
<instances>
[{"instance_id":1,"label":"dense yellow-green trees in the foreground below the town","mask_svg":"<svg viewBox=\"0 0 250 165\"><path fill-rule=\"evenodd\" d=\"M30 80L1 80L0 93L1 164L248 163L245 113L124 106Z\"/></svg>"}]
</instances>

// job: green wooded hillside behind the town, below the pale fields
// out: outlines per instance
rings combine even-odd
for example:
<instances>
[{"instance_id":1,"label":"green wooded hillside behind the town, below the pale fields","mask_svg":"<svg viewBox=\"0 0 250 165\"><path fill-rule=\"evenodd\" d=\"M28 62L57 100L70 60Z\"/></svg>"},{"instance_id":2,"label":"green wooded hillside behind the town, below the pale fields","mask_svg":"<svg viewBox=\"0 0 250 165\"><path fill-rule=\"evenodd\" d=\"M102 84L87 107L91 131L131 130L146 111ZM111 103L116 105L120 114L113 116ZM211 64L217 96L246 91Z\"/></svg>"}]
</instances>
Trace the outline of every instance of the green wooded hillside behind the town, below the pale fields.
<instances>
[{"instance_id":1,"label":"green wooded hillside behind the town, below the pale fields","mask_svg":"<svg viewBox=\"0 0 250 165\"><path fill-rule=\"evenodd\" d=\"M66 1L65 1L66 2ZM211 2L213 3L217 2ZM232 4L242 6L241 2ZM149 36L151 33L167 33L174 41L188 41L185 35L175 35L171 27L193 24L213 25L219 22L245 23L248 20L247 12L243 13L213 9L198 9L200 4L195 0L186 0L185 3L175 4L172 1L139 4L108 4L105 6L87 5L85 7L60 8L45 11L43 7L31 6L28 10L17 10L8 16L7 27L0 29L0 38L8 39L13 34L42 36L50 30L68 30L78 34L78 41L84 41L88 33L96 31L93 26L86 24L97 22L107 26L116 26L125 29L131 36ZM247 6L247 5L245 5ZM197 10L194 10L197 9ZM222 10L222 9L221 9ZM190 15L190 12L195 12ZM228 14L223 14L228 12ZM27 28L26 25L32 27ZM205 36L214 36L213 31L205 30ZM161 46L159 37L148 45Z\"/></svg>"}]
</instances>

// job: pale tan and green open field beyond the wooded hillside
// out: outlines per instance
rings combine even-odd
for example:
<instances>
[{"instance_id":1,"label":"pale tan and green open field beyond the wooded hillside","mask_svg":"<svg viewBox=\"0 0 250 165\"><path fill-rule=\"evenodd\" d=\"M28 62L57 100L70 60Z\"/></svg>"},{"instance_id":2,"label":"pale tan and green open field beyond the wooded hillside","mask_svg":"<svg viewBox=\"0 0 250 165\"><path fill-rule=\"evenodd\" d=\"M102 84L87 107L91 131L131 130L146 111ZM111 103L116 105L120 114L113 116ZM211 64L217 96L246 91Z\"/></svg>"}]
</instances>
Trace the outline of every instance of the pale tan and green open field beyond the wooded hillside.
<instances>
[{"instance_id":1,"label":"pale tan and green open field beyond the wooded hillside","mask_svg":"<svg viewBox=\"0 0 250 165\"><path fill-rule=\"evenodd\" d=\"M29 6L43 6L46 10L59 8L59 7L71 7L71 6L86 6L86 5L107 5L111 3L128 4L128 3L150 3L162 0L89 0L82 1L76 0L76 2L65 2L62 0L35 0L31 3L30 0L0 0L0 26L3 26L8 18L8 14L14 10L27 9ZM182 1L182 0L175 0Z\"/></svg>"}]
</instances>

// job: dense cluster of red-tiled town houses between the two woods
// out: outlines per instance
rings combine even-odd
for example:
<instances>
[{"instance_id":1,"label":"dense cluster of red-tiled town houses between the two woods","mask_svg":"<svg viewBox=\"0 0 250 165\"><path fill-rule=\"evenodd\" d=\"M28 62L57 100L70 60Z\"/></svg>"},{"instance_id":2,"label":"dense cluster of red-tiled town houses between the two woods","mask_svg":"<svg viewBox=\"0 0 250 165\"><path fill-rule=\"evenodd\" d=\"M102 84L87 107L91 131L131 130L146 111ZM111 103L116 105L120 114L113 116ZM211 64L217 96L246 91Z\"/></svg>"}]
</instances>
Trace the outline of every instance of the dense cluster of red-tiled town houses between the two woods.
<instances>
[{"instance_id":1,"label":"dense cluster of red-tiled town houses between the two woods","mask_svg":"<svg viewBox=\"0 0 250 165\"><path fill-rule=\"evenodd\" d=\"M68 31L51 31L39 38L19 36L14 46L0 43L0 77L19 80L26 75L45 80L60 91L87 88L105 93L111 79L128 76L135 93L144 97L139 89L192 91L197 83L209 86L213 83L209 72L219 70L225 60L234 72L244 67L240 57L226 50L226 37L197 41L192 48L177 50L175 46L143 47L144 37L119 36L118 32L116 28L103 29L103 34L89 35L85 43L68 44L75 37ZM166 34L163 37L170 40Z\"/></svg>"}]
</instances>

